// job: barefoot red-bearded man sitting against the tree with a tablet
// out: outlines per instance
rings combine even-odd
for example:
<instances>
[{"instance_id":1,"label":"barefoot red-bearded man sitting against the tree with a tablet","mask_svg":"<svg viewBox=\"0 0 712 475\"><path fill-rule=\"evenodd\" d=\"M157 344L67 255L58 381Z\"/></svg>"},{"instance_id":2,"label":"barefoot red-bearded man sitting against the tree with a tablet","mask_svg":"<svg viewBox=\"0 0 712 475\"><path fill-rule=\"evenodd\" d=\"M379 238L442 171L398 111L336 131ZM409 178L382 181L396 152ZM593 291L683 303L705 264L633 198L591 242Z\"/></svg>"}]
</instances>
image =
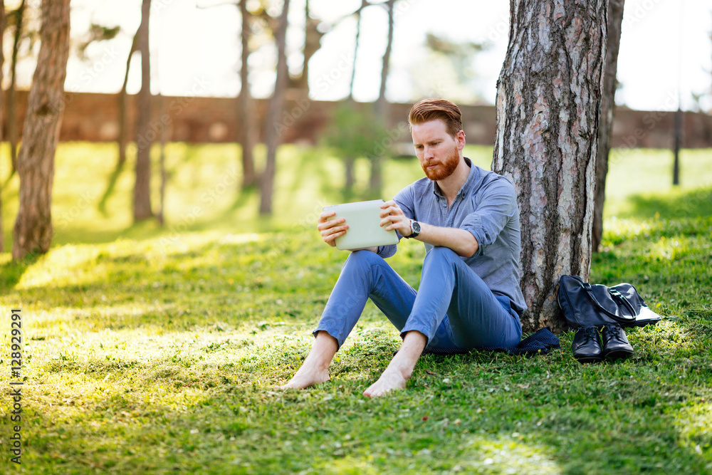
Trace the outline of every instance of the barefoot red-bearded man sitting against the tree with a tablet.
<instances>
[{"instance_id":1,"label":"barefoot red-bearded man sitting against the tree with a tablet","mask_svg":"<svg viewBox=\"0 0 712 475\"><path fill-rule=\"evenodd\" d=\"M382 204L381 226L426 246L419 291L384 258L396 246L352 251L342 268L304 364L283 385L303 389L329 379L328 367L370 298L403 339L381 377L363 393L405 387L428 348L510 347L526 309L519 288L520 224L513 185L463 156L459 108L443 99L415 104L409 122L426 177ZM335 246L344 219L322 214L317 229Z\"/></svg>"}]
</instances>

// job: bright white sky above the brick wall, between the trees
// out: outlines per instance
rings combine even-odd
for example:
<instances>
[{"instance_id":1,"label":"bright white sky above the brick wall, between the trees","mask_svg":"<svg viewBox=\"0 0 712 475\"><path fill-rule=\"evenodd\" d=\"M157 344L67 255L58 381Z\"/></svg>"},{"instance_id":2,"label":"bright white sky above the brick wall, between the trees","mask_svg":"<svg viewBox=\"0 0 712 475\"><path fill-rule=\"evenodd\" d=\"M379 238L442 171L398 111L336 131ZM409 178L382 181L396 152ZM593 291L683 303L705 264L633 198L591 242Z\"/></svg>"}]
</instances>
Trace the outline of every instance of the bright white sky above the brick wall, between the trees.
<instances>
[{"instance_id":1,"label":"bright white sky above the brick wall, between the trees","mask_svg":"<svg viewBox=\"0 0 712 475\"><path fill-rule=\"evenodd\" d=\"M38 1L33 0L36 3ZM152 90L165 95L234 97L239 93L239 11L226 0L153 0L151 13ZM288 29L290 71L300 71L305 0L291 0ZM140 0L73 0L72 38L78 41L91 21L120 25L115 40L90 46L88 61L70 58L66 90L115 93L122 84L131 38L140 23ZM280 1L273 7L279 11ZM339 100L348 94L356 22L338 21L360 0L310 0L312 16L323 36L310 62L310 95ZM11 1L6 1L8 7ZM411 102L424 95L493 103L496 80L506 55L508 1L399 0L396 6L391 74L387 98ZM473 75L464 89L451 80L444 64L424 48L426 33L452 41L483 43L485 51L471 63ZM357 55L355 98L378 95L387 15L379 6L365 9ZM678 97L685 110L696 110L693 94L703 95L703 110L712 108L712 0L626 0L618 60L622 87L616 102L641 110L674 110ZM260 39L256 38L259 43ZM251 91L266 97L273 87L276 52L268 41L250 58ZM7 56L6 56L7 57ZM33 64L26 61L19 82L29 84ZM129 92L140 87L140 61L132 63ZM706 96L705 96L706 95Z\"/></svg>"}]
</instances>

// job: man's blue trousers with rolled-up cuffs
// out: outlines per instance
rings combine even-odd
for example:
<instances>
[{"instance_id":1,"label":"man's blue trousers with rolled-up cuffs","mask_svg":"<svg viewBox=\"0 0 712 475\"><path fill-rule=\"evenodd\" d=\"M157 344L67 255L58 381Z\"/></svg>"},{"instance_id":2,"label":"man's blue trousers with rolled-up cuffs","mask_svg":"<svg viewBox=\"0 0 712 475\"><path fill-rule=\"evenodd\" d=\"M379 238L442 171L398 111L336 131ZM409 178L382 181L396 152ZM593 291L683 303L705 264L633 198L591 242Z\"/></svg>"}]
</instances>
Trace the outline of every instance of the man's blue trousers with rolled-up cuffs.
<instances>
[{"instance_id":1,"label":"man's blue trousers with rolled-up cuffs","mask_svg":"<svg viewBox=\"0 0 712 475\"><path fill-rule=\"evenodd\" d=\"M509 298L486 283L451 249L435 247L426 255L419 291L408 285L371 251L355 251L346 260L314 334L320 330L341 346L368 298L401 332L417 330L428 348L511 347L522 338L519 315Z\"/></svg>"}]
</instances>

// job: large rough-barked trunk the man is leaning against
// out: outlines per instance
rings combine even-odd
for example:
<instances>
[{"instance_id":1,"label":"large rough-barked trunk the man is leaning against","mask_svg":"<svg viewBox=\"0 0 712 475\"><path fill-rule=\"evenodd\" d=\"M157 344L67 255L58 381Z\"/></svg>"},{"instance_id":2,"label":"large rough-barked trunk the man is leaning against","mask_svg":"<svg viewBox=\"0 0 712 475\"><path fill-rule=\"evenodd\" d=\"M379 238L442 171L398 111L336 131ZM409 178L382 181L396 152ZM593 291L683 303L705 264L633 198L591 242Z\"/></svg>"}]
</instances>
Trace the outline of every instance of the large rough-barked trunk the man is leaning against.
<instances>
[{"instance_id":1,"label":"large rough-barked trunk the man is leaning against","mask_svg":"<svg viewBox=\"0 0 712 475\"><path fill-rule=\"evenodd\" d=\"M513 0L492 169L515 185L525 331L560 330L559 277L588 279L607 0Z\"/></svg>"}]
</instances>

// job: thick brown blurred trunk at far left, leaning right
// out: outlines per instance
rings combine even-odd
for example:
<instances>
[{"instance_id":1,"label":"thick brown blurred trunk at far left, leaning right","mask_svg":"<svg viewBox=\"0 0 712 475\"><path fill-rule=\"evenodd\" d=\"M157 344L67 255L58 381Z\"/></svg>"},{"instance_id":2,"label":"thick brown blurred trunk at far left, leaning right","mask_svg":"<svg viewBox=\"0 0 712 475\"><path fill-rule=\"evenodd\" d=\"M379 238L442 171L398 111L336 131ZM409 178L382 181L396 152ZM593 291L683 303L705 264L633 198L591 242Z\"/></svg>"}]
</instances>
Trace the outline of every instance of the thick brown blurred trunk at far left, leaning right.
<instances>
[{"instance_id":1,"label":"thick brown blurred trunk at far left, leaning right","mask_svg":"<svg viewBox=\"0 0 712 475\"><path fill-rule=\"evenodd\" d=\"M69 57L69 0L42 0L41 47L32 87L22 147L17 160L20 207L12 256L44 254L52 242L54 152L64 110L64 80Z\"/></svg>"}]
</instances>

